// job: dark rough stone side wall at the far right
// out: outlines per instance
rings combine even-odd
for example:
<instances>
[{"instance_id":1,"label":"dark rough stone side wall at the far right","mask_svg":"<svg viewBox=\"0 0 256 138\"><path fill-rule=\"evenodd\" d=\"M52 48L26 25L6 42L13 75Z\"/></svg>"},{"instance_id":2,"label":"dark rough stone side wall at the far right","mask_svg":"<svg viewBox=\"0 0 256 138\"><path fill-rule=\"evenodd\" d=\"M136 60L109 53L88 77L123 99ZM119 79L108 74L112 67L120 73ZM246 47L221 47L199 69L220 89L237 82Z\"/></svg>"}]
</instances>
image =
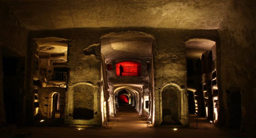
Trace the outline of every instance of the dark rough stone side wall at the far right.
<instances>
[{"instance_id":1,"label":"dark rough stone side wall at the far right","mask_svg":"<svg viewBox=\"0 0 256 138\"><path fill-rule=\"evenodd\" d=\"M256 2L233 0L218 32L221 43L221 66L218 72L220 87L220 119L231 124L228 108L230 95L238 91L242 100L241 129L256 134ZM217 55L218 56L218 55ZM218 58L218 57L217 57ZM217 66L218 71L218 66Z\"/></svg>"}]
</instances>

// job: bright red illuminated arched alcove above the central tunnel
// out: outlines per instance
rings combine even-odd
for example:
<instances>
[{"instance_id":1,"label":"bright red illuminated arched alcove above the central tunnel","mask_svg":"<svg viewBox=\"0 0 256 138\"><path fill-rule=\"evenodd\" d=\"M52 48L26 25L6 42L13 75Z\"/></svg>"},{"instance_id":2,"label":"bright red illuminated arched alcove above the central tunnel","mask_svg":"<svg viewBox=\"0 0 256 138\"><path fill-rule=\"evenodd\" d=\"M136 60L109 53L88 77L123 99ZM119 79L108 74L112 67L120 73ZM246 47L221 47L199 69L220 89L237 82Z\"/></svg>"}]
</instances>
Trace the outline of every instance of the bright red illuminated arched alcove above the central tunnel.
<instances>
[{"instance_id":1,"label":"bright red illuminated arched alcove above the central tunnel","mask_svg":"<svg viewBox=\"0 0 256 138\"><path fill-rule=\"evenodd\" d=\"M116 63L117 76L140 76L141 63L137 61L121 61Z\"/></svg>"}]
</instances>

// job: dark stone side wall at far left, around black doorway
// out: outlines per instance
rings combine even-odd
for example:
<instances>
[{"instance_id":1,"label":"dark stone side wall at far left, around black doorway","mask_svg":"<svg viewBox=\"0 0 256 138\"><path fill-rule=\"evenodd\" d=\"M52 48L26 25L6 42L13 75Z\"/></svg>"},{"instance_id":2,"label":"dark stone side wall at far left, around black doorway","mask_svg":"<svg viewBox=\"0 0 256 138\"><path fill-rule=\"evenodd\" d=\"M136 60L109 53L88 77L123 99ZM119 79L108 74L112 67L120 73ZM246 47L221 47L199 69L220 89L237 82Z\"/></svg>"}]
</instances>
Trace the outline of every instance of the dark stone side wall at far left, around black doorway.
<instances>
[{"instance_id":1,"label":"dark stone side wall at far left, around black doorway","mask_svg":"<svg viewBox=\"0 0 256 138\"><path fill-rule=\"evenodd\" d=\"M27 38L29 30L22 26L18 20L13 15L13 12L7 8L4 4L0 4L0 45L1 51L0 56L9 56L9 57L25 57L27 54ZM23 60L23 59L22 59ZM22 61L22 66L26 69L25 58ZM1 66L2 66L2 59L1 59ZM0 123L5 122L5 110L3 105L3 72L2 68L0 68ZM24 74L25 76L25 74ZM26 95L26 88L25 88L25 77L22 76L20 81L19 88L20 93L19 96L16 97L17 104L19 105L19 109L17 110L17 122L18 124L24 124L25 118L25 95ZM3 111L3 112L2 112Z\"/></svg>"}]
</instances>

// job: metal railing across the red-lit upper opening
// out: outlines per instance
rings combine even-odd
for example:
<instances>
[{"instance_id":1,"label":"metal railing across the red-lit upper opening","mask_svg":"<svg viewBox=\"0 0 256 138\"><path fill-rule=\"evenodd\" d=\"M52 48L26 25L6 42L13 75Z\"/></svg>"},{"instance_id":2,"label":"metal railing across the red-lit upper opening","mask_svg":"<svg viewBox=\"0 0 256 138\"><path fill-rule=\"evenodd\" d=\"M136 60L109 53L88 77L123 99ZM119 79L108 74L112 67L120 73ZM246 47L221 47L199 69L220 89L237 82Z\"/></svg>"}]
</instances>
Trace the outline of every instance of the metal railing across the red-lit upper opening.
<instances>
[{"instance_id":1,"label":"metal railing across the red-lit upper opening","mask_svg":"<svg viewBox=\"0 0 256 138\"><path fill-rule=\"evenodd\" d=\"M140 76L141 67L116 66L117 76Z\"/></svg>"}]
</instances>

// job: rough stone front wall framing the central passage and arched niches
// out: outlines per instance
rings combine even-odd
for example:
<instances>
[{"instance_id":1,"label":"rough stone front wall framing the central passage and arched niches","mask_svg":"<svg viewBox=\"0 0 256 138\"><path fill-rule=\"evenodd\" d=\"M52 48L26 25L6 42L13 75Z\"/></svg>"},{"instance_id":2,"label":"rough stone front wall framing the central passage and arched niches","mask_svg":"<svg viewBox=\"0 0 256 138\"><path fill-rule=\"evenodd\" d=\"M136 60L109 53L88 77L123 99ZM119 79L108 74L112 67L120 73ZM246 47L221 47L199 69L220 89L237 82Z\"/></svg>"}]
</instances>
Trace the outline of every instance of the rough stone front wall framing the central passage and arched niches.
<instances>
[{"instance_id":1,"label":"rough stone front wall framing the central passage and arched niches","mask_svg":"<svg viewBox=\"0 0 256 138\"><path fill-rule=\"evenodd\" d=\"M29 40L32 38L58 37L72 40L68 51L68 65L70 67L70 78L68 92L66 93L65 118L71 118L65 123L73 124L101 124L100 116L100 57L97 52L91 55L84 49L90 45L97 45L99 38L110 32L139 31L151 34L155 37L154 42L154 70L155 70L155 120L160 124L161 120L161 102L159 100L160 91L165 85L177 84L183 92L182 106L187 108L186 103L186 55L185 43L188 39L204 38L218 42L218 33L216 30L186 30L186 29L167 29L167 28L149 28L149 27L125 27L125 28L73 28L62 30L31 31ZM97 46L96 46L97 47ZM97 51L97 50L96 50ZM74 85L84 83L94 89L94 115L93 120L73 120L72 113L74 109L74 97L71 90ZM112 88L109 88L112 89ZM153 91L151 91L153 92ZM153 104L153 102L151 102ZM151 105L152 106L152 105ZM72 107L72 108L71 108ZM153 106L152 106L153 107ZM185 108L184 108L185 109ZM188 112L182 115L184 120L188 119ZM97 123L95 123L95 121ZM185 121L186 122L186 121ZM188 122L184 125L188 125Z\"/></svg>"}]
</instances>

